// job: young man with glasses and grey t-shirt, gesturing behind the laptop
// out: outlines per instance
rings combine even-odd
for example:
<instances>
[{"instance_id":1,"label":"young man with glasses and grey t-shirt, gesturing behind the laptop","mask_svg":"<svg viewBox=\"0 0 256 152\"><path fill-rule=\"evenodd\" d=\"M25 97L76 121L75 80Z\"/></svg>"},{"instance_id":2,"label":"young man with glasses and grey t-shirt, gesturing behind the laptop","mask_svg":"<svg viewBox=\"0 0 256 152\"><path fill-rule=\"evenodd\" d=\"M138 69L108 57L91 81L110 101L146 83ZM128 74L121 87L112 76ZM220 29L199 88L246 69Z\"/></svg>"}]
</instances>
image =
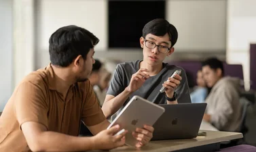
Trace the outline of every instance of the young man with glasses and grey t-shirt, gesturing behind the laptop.
<instances>
[{"instance_id":1,"label":"young man with glasses and grey t-shirt, gesturing behind the laptop","mask_svg":"<svg viewBox=\"0 0 256 152\"><path fill-rule=\"evenodd\" d=\"M191 103L185 70L163 63L175 51L177 38L177 29L167 20L151 20L144 26L139 41L143 60L117 65L102 107L107 118L122 110L134 95L157 104ZM170 78L178 69L181 76ZM162 86L164 93L160 93Z\"/></svg>"}]
</instances>

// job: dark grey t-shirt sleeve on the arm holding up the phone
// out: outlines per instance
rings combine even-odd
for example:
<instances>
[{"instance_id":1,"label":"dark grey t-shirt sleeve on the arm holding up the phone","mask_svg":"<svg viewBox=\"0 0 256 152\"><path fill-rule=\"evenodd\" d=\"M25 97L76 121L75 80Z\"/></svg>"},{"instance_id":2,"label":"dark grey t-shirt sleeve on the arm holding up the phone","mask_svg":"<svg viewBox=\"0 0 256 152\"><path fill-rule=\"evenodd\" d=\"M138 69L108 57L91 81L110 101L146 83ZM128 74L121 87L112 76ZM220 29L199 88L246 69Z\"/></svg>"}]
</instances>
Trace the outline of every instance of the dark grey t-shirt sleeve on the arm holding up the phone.
<instances>
[{"instance_id":1,"label":"dark grey t-shirt sleeve on the arm holding up the phone","mask_svg":"<svg viewBox=\"0 0 256 152\"><path fill-rule=\"evenodd\" d=\"M182 80L177 89L175 90L175 92L177 93L177 101L178 103L191 103L187 76L185 70L183 68L181 68L181 70Z\"/></svg>"}]
</instances>

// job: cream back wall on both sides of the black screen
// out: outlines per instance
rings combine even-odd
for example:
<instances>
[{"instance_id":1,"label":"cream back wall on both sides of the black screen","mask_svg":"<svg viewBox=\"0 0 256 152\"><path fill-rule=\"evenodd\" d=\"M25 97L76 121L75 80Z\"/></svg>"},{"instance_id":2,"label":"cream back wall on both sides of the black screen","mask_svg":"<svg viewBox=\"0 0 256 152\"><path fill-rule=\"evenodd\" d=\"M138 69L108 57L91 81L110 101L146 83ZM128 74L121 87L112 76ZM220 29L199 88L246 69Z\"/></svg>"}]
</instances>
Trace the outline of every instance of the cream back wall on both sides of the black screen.
<instances>
[{"instance_id":1,"label":"cream back wall on both sides of the black screen","mask_svg":"<svg viewBox=\"0 0 256 152\"><path fill-rule=\"evenodd\" d=\"M175 54L184 51L191 53L204 51L211 52L212 55L214 52L225 55L225 0L167 0L166 4L167 18L170 22L174 22L179 30ZM37 1L35 8L37 12L35 68L41 68L50 61L48 53L50 35L61 26L69 24L87 28L98 36L100 43L95 48L95 57L122 61L143 58L141 49L107 48L107 1L105 0L40 0ZM217 24L214 24L216 22ZM175 54L166 61L177 59ZM195 55L186 57L200 59L200 55L199 53L196 57Z\"/></svg>"}]
</instances>

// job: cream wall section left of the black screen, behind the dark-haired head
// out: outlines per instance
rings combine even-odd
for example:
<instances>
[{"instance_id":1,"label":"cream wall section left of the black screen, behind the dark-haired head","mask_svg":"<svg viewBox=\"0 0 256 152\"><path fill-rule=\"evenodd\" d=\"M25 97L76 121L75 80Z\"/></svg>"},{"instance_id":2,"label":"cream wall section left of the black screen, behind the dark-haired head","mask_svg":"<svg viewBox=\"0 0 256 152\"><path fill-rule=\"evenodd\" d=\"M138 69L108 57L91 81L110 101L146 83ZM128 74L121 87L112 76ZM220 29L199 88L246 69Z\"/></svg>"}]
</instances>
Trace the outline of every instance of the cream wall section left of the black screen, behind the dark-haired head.
<instances>
[{"instance_id":1,"label":"cream wall section left of the black screen, behind the dark-haired head","mask_svg":"<svg viewBox=\"0 0 256 152\"><path fill-rule=\"evenodd\" d=\"M40 0L36 3L37 67L50 61L48 41L62 26L76 25L90 30L100 43L95 49L107 48L107 1L105 0Z\"/></svg>"}]
</instances>

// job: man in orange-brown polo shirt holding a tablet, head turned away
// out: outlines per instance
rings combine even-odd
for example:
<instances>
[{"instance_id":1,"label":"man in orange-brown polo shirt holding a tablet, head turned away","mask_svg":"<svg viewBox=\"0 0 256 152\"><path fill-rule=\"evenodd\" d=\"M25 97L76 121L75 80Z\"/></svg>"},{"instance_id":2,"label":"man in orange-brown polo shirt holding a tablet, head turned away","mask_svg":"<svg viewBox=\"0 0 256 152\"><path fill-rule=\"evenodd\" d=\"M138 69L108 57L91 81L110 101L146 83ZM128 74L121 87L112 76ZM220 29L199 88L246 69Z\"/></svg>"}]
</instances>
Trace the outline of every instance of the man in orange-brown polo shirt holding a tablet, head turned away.
<instances>
[{"instance_id":1,"label":"man in orange-brown polo shirt holding a tablet, head turned away","mask_svg":"<svg viewBox=\"0 0 256 152\"><path fill-rule=\"evenodd\" d=\"M26 76L0 117L0 151L86 151L124 145L124 134L103 115L88 81L94 64L94 34L77 26L59 28L50 37L51 63ZM79 122L92 137L81 137ZM153 128L136 130L138 147L148 143Z\"/></svg>"}]
</instances>

